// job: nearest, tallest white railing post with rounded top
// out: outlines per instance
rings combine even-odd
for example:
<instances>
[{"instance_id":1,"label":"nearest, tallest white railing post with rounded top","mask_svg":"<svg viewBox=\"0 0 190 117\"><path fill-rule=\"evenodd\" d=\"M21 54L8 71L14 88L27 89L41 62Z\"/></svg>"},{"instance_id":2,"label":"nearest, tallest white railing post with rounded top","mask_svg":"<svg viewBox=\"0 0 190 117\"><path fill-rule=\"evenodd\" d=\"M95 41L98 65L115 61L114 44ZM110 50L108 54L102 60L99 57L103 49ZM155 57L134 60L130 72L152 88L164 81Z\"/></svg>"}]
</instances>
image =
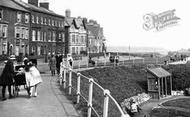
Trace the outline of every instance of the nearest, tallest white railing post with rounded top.
<instances>
[{"instance_id":1,"label":"nearest, tallest white railing post with rounded top","mask_svg":"<svg viewBox=\"0 0 190 117\"><path fill-rule=\"evenodd\" d=\"M103 110L103 117L108 117L109 95L110 95L110 91L107 90L107 89L105 89L105 90L104 90L104 110Z\"/></svg>"}]
</instances>

